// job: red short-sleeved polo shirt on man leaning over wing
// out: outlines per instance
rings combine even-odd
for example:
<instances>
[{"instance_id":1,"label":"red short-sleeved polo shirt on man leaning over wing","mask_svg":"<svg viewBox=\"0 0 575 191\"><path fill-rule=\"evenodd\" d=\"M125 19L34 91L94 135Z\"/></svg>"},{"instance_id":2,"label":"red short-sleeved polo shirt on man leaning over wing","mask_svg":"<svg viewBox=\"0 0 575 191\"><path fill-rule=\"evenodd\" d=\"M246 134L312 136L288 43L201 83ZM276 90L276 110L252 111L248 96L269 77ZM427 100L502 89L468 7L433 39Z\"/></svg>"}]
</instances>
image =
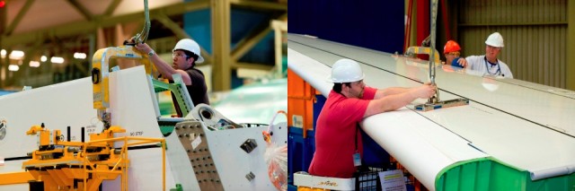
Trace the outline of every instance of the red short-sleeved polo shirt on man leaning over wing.
<instances>
[{"instance_id":1,"label":"red short-sleeved polo shirt on man leaning over wing","mask_svg":"<svg viewBox=\"0 0 575 191\"><path fill-rule=\"evenodd\" d=\"M323 105L315 126L315 153L309 166L314 176L351 178L356 171L353 154L358 140L358 152L363 157L361 135L356 124L363 119L370 100L376 96L376 89L365 87L363 98L346 98L331 91Z\"/></svg>"}]
</instances>

